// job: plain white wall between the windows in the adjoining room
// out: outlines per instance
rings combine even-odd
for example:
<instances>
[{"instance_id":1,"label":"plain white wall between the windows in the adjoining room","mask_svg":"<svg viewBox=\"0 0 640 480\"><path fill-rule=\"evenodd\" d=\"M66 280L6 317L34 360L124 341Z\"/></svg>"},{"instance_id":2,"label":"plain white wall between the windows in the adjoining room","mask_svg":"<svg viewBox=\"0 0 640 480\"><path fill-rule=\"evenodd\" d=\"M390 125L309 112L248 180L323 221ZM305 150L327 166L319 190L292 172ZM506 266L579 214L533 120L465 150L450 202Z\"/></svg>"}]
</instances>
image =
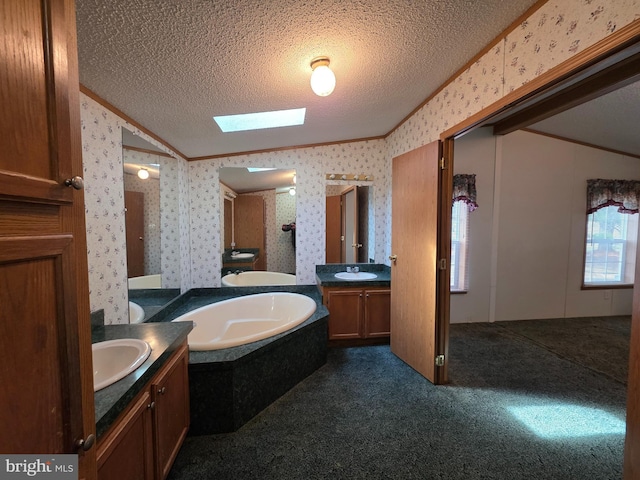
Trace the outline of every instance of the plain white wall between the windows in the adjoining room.
<instances>
[{"instance_id":1,"label":"plain white wall between the windows in the adjoining room","mask_svg":"<svg viewBox=\"0 0 640 480\"><path fill-rule=\"evenodd\" d=\"M469 293L451 321L630 315L632 289L582 290L586 180L639 179L640 160L527 132L456 140L455 173L475 173Z\"/></svg>"}]
</instances>

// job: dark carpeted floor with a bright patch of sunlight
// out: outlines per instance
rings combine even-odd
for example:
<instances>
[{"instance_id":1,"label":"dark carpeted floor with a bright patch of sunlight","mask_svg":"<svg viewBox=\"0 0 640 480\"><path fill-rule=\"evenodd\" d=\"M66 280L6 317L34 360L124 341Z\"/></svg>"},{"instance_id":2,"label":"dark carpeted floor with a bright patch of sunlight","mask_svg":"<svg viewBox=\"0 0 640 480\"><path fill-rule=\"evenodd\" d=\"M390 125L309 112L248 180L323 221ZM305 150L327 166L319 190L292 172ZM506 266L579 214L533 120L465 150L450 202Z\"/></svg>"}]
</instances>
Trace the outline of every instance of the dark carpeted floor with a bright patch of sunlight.
<instances>
[{"instance_id":1,"label":"dark carpeted floor with a bright patch of sunlight","mask_svg":"<svg viewBox=\"0 0 640 480\"><path fill-rule=\"evenodd\" d=\"M388 346L331 349L237 432L187 438L169 479L620 479L626 388L589 359L626 367L630 318L571 321L452 325L437 387Z\"/></svg>"}]
</instances>

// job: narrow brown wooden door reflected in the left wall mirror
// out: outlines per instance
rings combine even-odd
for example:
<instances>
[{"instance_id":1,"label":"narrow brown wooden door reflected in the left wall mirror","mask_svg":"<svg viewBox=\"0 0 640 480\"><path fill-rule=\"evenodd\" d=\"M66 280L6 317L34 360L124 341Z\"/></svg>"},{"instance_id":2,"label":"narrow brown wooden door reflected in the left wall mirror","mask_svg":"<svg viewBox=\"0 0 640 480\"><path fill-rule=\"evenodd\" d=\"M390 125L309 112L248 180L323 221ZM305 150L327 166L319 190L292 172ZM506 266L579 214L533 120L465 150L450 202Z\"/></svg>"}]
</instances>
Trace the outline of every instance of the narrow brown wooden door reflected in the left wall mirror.
<instances>
[{"instance_id":1,"label":"narrow brown wooden door reflected in the left wall mirror","mask_svg":"<svg viewBox=\"0 0 640 480\"><path fill-rule=\"evenodd\" d=\"M144 193L124 192L127 236L127 276L141 277L144 272Z\"/></svg>"}]
</instances>

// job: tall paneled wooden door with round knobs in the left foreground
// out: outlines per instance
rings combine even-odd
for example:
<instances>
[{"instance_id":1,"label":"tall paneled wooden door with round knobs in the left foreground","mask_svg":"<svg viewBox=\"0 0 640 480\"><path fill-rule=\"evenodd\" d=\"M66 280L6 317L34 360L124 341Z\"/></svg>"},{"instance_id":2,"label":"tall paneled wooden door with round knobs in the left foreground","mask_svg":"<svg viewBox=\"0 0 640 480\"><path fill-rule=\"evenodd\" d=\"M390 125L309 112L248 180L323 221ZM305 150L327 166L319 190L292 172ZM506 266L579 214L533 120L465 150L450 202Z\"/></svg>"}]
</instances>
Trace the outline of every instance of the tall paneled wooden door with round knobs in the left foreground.
<instances>
[{"instance_id":1,"label":"tall paneled wooden door with round knobs in the left foreground","mask_svg":"<svg viewBox=\"0 0 640 480\"><path fill-rule=\"evenodd\" d=\"M95 478L74 2L0 2L0 36L0 451L84 442Z\"/></svg>"}]
</instances>

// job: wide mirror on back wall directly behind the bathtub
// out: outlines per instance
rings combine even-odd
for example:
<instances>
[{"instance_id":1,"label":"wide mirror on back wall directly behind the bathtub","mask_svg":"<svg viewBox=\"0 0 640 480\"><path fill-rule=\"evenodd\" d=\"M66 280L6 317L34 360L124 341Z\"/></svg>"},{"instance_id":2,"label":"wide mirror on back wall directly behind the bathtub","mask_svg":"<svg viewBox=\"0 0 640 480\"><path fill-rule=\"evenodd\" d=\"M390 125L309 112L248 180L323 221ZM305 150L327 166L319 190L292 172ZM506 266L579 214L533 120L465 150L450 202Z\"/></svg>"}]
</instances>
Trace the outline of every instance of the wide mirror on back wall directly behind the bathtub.
<instances>
[{"instance_id":1,"label":"wide mirror on back wall directly behind the bathtub","mask_svg":"<svg viewBox=\"0 0 640 480\"><path fill-rule=\"evenodd\" d=\"M253 269L295 274L295 169L221 167L219 174L222 273L232 268L225 263L232 251L259 249Z\"/></svg>"}]
</instances>

